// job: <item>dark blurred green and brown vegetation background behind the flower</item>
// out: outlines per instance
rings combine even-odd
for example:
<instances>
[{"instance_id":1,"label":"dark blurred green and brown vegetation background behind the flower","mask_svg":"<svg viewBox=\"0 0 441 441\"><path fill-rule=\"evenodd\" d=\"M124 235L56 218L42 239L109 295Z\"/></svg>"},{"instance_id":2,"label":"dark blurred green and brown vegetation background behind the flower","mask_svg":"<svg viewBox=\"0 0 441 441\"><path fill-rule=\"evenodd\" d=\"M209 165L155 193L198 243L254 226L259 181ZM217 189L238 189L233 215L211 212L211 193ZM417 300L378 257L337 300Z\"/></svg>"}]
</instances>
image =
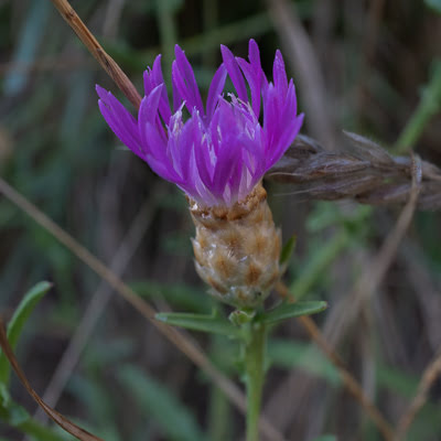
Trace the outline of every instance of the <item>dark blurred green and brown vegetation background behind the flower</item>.
<instances>
[{"instance_id":1,"label":"dark blurred green and brown vegetation background behind the flower","mask_svg":"<svg viewBox=\"0 0 441 441\"><path fill-rule=\"evenodd\" d=\"M248 40L256 39L268 76L280 47L306 114L302 132L333 148L345 129L392 149L441 56L435 0L72 4L140 92L142 72L158 53L168 76L175 43L185 50L204 93L220 62L219 44L246 56ZM280 14L280 4L299 22ZM313 55L319 76L299 50ZM109 130L95 84L127 101L50 1L0 1L0 75L1 176L159 310L209 312L212 301L193 267L185 198ZM440 139L438 114L424 122L415 150L441 165ZM330 302L329 311L314 320L395 423L441 347L440 214L417 213L380 289L340 332L354 304L352 287L394 227L399 207L318 203L308 195L282 196L286 192L269 185L284 240L298 236L287 282L298 297ZM240 439L243 417L209 380L90 269L0 196L1 316L8 320L40 280L54 287L26 323L18 356L41 395L54 381L72 338L84 336L78 363L55 388L61 412L106 441ZM194 336L219 368L239 380L234 343ZM297 321L272 334L269 355L263 408L287 439L323 433L338 440L381 439ZM31 415L36 411L15 378L10 392ZM22 440L23 431L19 423L0 420L1 439ZM30 439L49 440L28 432ZM408 440L440 439L438 380Z\"/></svg>"}]
</instances>

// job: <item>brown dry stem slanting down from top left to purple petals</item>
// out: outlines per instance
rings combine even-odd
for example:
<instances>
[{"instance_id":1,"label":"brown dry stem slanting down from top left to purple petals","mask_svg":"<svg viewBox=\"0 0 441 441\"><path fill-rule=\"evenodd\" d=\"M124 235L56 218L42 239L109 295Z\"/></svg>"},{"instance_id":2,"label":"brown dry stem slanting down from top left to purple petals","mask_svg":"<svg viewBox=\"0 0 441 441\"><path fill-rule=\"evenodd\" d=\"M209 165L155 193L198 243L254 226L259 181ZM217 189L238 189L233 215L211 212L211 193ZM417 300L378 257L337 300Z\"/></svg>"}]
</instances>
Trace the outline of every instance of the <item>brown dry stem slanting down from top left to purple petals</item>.
<instances>
[{"instance_id":1,"label":"brown dry stem slanting down from top left to purple petals","mask_svg":"<svg viewBox=\"0 0 441 441\"><path fill-rule=\"evenodd\" d=\"M69 2L66 0L51 0L58 12L62 14L63 19L67 24L74 30L78 35L79 40L88 49L95 60L100 64L100 66L107 72L116 85L126 95L129 101L135 106L136 109L139 108L141 104L141 96L135 88L133 84L122 72L115 60L106 53L103 46L98 43L94 34L87 29L82 19L71 7Z\"/></svg>"}]
</instances>

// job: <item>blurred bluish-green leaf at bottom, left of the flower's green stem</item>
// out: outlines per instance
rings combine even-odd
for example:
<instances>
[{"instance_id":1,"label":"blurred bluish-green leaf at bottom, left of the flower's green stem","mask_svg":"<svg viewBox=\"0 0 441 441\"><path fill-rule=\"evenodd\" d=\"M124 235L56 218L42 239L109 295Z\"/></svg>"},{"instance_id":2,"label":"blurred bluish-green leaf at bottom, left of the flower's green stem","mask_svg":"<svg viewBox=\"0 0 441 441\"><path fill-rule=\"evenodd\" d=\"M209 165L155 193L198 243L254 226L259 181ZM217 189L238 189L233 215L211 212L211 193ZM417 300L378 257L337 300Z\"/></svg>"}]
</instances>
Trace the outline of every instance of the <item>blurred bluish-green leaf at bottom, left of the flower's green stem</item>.
<instances>
[{"instance_id":1,"label":"blurred bluish-green leaf at bottom, left of the flower's green stem","mask_svg":"<svg viewBox=\"0 0 441 441\"><path fill-rule=\"evenodd\" d=\"M189 407L180 402L171 390L135 366L123 366L118 377L141 408L161 428L170 441L205 440Z\"/></svg>"}]
</instances>

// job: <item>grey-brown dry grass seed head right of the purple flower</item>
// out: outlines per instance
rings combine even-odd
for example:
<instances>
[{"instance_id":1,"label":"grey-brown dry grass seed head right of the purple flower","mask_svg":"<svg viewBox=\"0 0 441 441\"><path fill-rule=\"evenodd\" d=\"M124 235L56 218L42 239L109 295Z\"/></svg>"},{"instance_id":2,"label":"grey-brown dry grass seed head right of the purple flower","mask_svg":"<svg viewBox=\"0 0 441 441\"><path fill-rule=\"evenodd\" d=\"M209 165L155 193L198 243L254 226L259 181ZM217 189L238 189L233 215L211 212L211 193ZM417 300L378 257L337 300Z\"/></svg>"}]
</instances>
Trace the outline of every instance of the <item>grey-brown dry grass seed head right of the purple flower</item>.
<instances>
[{"instance_id":1,"label":"grey-brown dry grass seed head right of the purple flower","mask_svg":"<svg viewBox=\"0 0 441 441\"><path fill-rule=\"evenodd\" d=\"M266 178L295 184L292 194L314 200L354 198L363 204L405 204L412 187L412 159L391 157L377 143L345 132L349 151L330 152L315 140L299 136ZM441 170L421 161L417 207L441 209Z\"/></svg>"}]
</instances>

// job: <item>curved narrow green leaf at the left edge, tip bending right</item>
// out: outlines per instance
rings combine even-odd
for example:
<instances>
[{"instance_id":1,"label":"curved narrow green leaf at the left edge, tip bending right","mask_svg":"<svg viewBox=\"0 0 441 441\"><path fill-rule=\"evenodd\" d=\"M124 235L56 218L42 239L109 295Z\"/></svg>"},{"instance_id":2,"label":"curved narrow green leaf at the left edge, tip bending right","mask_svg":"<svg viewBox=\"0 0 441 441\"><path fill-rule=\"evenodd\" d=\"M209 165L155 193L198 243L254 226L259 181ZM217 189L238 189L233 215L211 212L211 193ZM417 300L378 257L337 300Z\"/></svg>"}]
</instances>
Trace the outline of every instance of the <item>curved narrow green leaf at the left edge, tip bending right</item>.
<instances>
[{"instance_id":1,"label":"curved narrow green leaf at the left edge, tip bending right","mask_svg":"<svg viewBox=\"0 0 441 441\"><path fill-rule=\"evenodd\" d=\"M26 294L24 295L23 300L20 302L19 306L17 308L12 319L8 324L8 340L9 344L11 345L12 349L15 348L17 343L19 341L20 334L23 330L23 326L34 310L39 301L42 297L50 290L52 284L50 282L39 282L33 288L31 288ZM0 384L8 384L9 381L9 374L10 374L10 365L6 355L1 352L0 353Z\"/></svg>"}]
</instances>

